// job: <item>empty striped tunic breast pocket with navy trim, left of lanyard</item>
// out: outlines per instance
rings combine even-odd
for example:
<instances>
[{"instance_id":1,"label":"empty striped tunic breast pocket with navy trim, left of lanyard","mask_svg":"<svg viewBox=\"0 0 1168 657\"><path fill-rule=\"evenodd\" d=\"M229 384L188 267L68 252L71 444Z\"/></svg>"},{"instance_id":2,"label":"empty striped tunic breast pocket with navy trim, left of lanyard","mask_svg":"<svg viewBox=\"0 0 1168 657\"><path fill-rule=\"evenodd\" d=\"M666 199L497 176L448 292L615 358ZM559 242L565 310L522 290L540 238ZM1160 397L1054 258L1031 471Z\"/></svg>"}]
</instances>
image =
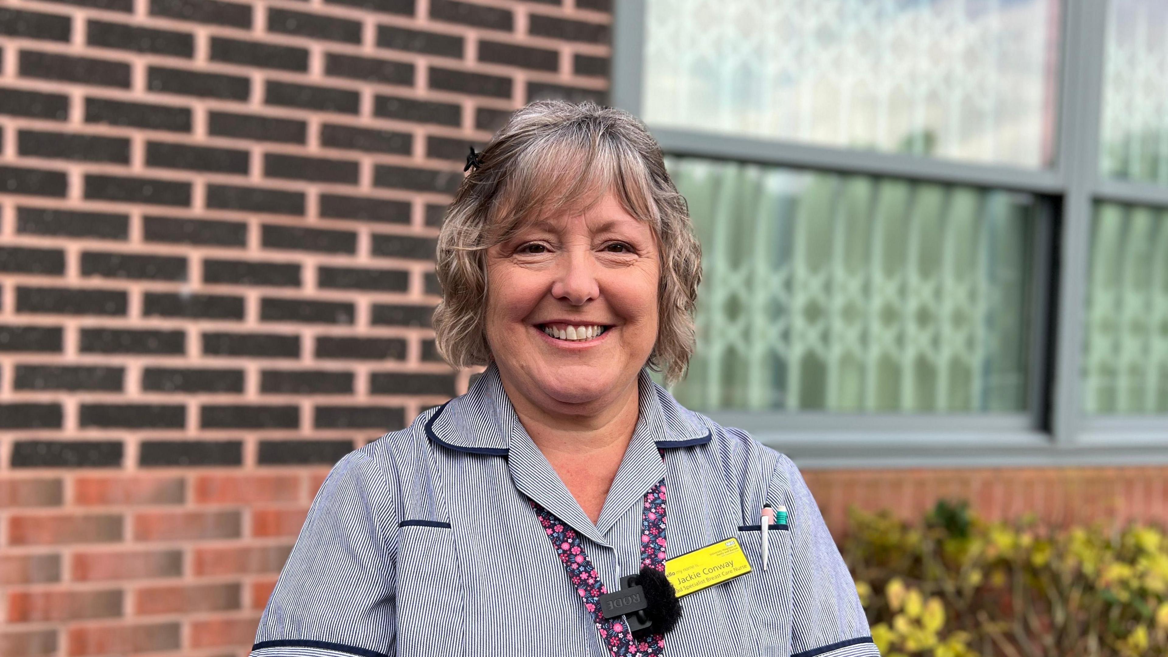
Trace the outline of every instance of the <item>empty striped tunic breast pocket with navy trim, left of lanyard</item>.
<instances>
[{"instance_id":1,"label":"empty striped tunic breast pocket with navy trim, left of lanyard","mask_svg":"<svg viewBox=\"0 0 1168 657\"><path fill-rule=\"evenodd\" d=\"M463 574L447 523L398 525L397 655L463 655Z\"/></svg>"}]
</instances>

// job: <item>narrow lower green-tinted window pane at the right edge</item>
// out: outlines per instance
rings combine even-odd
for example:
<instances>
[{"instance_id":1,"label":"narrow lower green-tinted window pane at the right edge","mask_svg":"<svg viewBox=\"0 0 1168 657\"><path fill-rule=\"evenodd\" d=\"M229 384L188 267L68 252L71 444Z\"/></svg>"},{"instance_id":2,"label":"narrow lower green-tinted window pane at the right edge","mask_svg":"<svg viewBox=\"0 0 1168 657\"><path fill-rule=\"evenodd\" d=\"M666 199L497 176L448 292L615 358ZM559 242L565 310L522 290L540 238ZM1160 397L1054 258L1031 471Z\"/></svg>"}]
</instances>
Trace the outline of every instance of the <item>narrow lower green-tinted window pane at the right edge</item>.
<instances>
[{"instance_id":1,"label":"narrow lower green-tinted window pane at the right edge","mask_svg":"<svg viewBox=\"0 0 1168 657\"><path fill-rule=\"evenodd\" d=\"M1091 414L1168 414L1168 210L1099 203L1084 359Z\"/></svg>"}]
</instances>

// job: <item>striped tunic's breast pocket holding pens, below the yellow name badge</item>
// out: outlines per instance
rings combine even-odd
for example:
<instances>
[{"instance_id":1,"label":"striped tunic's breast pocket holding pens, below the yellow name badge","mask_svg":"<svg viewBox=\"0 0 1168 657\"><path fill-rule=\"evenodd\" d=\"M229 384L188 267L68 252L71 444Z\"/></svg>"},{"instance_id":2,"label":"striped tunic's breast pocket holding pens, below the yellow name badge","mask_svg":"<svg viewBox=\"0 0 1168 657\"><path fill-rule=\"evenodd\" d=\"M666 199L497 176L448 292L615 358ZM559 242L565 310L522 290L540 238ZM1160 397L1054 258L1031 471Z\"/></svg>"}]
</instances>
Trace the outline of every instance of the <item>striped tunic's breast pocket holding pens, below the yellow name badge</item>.
<instances>
[{"instance_id":1,"label":"striped tunic's breast pocket holding pens, below the yellow name badge","mask_svg":"<svg viewBox=\"0 0 1168 657\"><path fill-rule=\"evenodd\" d=\"M751 572L743 576L746 603L755 628L759 657L787 657L791 652L791 532L786 525L770 528L767 568L763 570L763 532L758 525L738 527L738 542Z\"/></svg>"}]
</instances>

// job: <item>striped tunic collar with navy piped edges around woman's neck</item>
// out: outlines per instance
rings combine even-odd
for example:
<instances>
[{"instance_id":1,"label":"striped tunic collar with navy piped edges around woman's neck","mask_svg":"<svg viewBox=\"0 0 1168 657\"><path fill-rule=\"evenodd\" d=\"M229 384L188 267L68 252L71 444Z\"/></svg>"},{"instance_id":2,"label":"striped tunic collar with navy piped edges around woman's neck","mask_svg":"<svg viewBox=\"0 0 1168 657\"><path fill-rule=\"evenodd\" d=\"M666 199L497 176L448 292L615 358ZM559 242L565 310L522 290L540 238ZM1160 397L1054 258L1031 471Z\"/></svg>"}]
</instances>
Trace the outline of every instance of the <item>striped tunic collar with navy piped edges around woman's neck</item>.
<instances>
[{"instance_id":1,"label":"striped tunic collar with navy piped edges around woman's neck","mask_svg":"<svg viewBox=\"0 0 1168 657\"><path fill-rule=\"evenodd\" d=\"M665 477L658 450L710 442L711 430L687 412L668 390L641 369L638 378L640 414L628 449L596 525L568 492L543 452L523 429L491 364L465 395L439 408L426 422L430 440L447 449L480 456L506 456L515 487L538 502L589 539L609 545L604 534Z\"/></svg>"}]
</instances>

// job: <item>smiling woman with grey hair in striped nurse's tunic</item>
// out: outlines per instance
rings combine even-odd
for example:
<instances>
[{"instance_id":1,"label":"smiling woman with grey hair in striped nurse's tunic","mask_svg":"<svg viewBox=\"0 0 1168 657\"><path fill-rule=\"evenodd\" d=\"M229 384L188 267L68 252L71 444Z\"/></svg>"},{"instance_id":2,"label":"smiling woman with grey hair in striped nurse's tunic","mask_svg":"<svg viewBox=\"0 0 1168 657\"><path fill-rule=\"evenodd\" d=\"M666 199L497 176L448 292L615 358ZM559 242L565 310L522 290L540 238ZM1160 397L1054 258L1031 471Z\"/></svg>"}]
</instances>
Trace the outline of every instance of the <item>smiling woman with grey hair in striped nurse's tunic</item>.
<instances>
[{"instance_id":1,"label":"smiling woman with grey hair in striped nurse's tunic","mask_svg":"<svg viewBox=\"0 0 1168 657\"><path fill-rule=\"evenodd\" d=\"M467 166L434 332L486 371L333 468L252 655L878 655L794 464L648 375L701 275L645 127L536 102Z\"/></svg>"}]
</instances>

